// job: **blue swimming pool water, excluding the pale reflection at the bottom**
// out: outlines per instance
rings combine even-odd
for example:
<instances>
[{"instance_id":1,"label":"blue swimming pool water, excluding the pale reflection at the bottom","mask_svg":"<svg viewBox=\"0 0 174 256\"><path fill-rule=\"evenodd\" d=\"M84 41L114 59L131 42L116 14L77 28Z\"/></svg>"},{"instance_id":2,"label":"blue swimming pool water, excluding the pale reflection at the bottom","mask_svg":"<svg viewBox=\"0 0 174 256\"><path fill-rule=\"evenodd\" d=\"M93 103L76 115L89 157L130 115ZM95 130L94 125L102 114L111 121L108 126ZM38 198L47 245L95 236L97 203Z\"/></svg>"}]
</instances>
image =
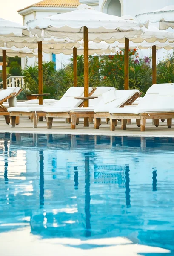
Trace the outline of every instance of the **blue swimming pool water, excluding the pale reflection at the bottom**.
<instances>
[{"instance_id":1,"label":"blue swimming pool water, excluding the pale reflection at the bottom","mask_svg":"<svg viewBox=\"0 0 174 256\"><path fill-rule=\"evenodd\" d=\"M174 138L0 134L0 239L17 231L174 255Z\"/></svg>"}]
</instances>

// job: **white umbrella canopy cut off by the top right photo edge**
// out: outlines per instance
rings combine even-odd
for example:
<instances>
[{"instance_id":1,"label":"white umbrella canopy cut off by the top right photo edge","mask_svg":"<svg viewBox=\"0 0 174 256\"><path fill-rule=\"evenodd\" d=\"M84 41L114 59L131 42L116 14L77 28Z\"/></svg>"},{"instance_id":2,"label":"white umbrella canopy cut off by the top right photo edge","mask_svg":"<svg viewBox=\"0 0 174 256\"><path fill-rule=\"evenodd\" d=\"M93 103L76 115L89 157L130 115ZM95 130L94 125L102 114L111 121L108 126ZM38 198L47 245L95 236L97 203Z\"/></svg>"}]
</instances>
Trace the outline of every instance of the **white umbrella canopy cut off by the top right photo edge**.
<instances>
[{"instance_id":1,"label":"white umbrella canopy cut off by the top right photo edge","mask_svg":"<svg viewBox=\"0 0 174 256\"><path fill-rule=\"evenodd\" d=\"M168 29L169 27L174 29L174 5L165 6L154 12L138 14L135 17L137 18L137 24L140 27L143 25L148 27L149 22L160 22L160 29Z\"/></svg>"}]
</instances>

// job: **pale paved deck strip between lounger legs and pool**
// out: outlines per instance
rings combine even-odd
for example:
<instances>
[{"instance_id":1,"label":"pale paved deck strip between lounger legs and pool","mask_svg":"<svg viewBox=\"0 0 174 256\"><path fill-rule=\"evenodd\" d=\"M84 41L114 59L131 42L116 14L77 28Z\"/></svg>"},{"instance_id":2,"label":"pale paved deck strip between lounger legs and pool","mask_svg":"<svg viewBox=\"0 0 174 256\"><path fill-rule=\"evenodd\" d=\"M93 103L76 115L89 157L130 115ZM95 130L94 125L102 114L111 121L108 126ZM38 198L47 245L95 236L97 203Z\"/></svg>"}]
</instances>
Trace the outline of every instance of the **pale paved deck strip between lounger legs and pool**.
<instances>
[{"instance_id":1,"label":"pale paved deck strip between lounger legs and pool","mask_svg":"<svg viewBox=\"0 0 174 256\"><path fill-rule=\"evenodd\" d=\"M32 123L28 118L20 118L20 124L11 128L10 125L6 125L4 117L0 116L0 132L174 137L174 125L169 129L166 121L160 121L159 127L155 127L151 120L147 120L146 131L140 132L135 120L132 120L132 124L127 125L126 130L122 131L121 122L118 122L115 131L110 131L110 124L106 124L103 119L99 130L94 129L94 123L90 124L89 127L83 127L83 122L80 122L75 130L71 130L70 124L65 123L64 119L54 119L52 129L47 129L45 119L38 123L37 128L32 128Z\"/></svg>"}]
</instances>

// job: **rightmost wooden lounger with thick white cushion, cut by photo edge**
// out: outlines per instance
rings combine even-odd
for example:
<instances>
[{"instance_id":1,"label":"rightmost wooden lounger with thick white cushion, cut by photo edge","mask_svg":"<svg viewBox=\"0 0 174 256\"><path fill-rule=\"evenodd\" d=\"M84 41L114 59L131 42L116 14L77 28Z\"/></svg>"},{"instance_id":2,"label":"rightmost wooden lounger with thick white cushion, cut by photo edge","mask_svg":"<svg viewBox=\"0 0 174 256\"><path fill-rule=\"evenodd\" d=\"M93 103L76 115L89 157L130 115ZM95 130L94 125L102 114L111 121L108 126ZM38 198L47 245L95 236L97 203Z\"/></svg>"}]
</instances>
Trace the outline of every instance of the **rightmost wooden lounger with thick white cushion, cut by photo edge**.
<instances>
[{"instance_id":1,"label":"rightmost wooden lounger with thick white cushion, cut by photo edge","mask_svg":"<svg viewBox=\"0 0 174 256\"><path fill-rule=\"evenodd\" d=\"M171 128L174 118L174 84L154 84L137 106L111 108L111 131L115 130L117 119L122 120L122 130L126 129L127 119L136 119L137 126L145 131L146 119L154 119L154 125L159 126L159 119L167 119Z\"/></svg>"}]
</instances>

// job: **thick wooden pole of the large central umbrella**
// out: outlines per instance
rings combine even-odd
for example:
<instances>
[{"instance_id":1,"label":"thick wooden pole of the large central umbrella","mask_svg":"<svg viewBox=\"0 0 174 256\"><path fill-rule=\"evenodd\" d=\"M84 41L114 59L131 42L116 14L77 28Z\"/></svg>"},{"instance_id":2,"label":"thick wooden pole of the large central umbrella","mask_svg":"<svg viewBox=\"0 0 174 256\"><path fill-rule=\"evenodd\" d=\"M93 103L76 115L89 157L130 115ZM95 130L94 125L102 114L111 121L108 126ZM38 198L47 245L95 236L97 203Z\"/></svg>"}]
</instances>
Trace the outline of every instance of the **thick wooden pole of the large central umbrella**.
<instances>
[{"instance_id":1,"label":"thick wooden pole of the large central umbrella","mask_svg":"<svg viewBox=\"0 0 174 256\"><path fill-rule=\"evenodd\" d=\"M83 27L83 38L84 38L84 96L89 96L89 35L88 28ZM89 100L84 101L84 107L89 106ZM89 126L89 119L84 118L84 126Z\"/></svg>"}]
</instances>

